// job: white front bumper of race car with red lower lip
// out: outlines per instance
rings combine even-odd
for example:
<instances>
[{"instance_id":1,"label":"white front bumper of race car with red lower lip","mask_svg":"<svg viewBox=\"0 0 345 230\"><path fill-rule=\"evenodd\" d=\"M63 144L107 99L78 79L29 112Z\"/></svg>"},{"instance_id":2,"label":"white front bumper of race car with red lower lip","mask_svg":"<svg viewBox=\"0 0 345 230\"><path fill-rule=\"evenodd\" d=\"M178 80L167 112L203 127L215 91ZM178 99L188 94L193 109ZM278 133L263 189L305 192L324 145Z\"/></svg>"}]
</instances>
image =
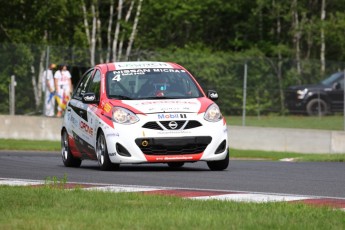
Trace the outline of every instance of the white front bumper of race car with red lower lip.
<instances>
[{"instance_id":1,"label":"white front bumper of race car with red lower lip","mask_svg":"<svg viewBox=\"0 0 345 230\"><path fill-rule=\"evenodd\" d=\"M114 129L104 130L110 160L121 164L222 160L228 153L226 123L207 122L202 116L176 121L177 130L164 125L170 120L152 121L155 115L142 116L132 125L114 124Z\"/></svg>"}]
</instances>

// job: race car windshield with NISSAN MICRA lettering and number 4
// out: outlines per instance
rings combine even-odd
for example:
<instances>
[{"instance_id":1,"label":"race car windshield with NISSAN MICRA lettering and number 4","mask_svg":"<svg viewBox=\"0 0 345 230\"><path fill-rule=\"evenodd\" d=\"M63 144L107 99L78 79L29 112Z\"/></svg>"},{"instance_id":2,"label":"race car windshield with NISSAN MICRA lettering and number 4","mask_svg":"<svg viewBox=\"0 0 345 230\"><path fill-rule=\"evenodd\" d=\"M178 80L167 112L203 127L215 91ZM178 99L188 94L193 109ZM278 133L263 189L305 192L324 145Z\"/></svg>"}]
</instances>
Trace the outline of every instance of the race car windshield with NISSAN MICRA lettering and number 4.
<instances>
[{"instance_id":1,"label":"race car windshield with NISSAN MICRA lettering and number 4","mask_svg":"<svg viewBox=\"0 0 345 230\"><path fill-rule=\"evenodd\" d=\"M109 71L109 98L120 100L197 98L202 93L182 69L128 69Z\"/></svg>"}]
</instances>

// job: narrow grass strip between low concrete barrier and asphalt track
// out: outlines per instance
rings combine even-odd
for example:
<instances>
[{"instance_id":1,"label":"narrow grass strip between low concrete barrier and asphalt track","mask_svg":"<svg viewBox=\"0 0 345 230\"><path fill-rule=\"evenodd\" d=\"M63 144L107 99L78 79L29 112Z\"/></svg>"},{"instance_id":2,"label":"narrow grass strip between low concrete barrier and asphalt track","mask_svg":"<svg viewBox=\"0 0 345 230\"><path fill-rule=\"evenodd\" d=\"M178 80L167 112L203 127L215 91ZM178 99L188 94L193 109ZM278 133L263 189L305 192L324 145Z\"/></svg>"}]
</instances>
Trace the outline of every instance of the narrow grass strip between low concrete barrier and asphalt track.
<instances>
[{"instance_id":1,"label":"narrow grass strip between low concrete barrier and asphalt track","mask_svg":"<svg viewBox=\"0 0 345 230\"><path fill-rule=\"evenodd\" d=\"M60 151L59 141L33 141L0 139L0 150ZM295 161L334 161L345 162L345 154L300 154L259 150L231 149L230 158L280 160L294 158Z\"/></svg>"}]
</instances>

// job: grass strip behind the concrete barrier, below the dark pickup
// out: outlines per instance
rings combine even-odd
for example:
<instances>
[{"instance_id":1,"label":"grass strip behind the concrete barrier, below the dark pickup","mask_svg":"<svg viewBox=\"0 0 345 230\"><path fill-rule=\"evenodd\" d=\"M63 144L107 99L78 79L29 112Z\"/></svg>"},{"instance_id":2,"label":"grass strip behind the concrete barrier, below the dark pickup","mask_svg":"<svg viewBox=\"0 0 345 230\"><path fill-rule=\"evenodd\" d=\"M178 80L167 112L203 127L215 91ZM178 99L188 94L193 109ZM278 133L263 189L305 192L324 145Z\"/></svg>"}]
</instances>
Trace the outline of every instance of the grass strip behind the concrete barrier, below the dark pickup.
<instances>
[{"instance_id":1,"label":"grass strip behind the concrete barrier, below the dark pickup","mask_svg":"<svg viewBox=\"0 0 345 230\"><path fill-rule=\"evenodd\" d=\"M242 126L241 116L226 116L228 125ZM299 128L321 130L344 130L343 116L247 116L246 126Z\"/></svg>"}]
</instances>

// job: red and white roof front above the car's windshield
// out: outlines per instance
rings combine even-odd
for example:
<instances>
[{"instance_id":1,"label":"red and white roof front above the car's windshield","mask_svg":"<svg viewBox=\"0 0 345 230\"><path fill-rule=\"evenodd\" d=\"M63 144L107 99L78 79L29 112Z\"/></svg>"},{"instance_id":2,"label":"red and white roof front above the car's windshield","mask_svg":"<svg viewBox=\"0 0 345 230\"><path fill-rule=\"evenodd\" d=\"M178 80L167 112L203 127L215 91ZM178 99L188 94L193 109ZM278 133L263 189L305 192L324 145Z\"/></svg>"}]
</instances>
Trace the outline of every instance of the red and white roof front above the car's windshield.
<instances>
[{"instance_id":1,"label":"red and white roof front above the car's windshield","mask_svg":"<svg viewBox=\"0 0 345 230\"><path fill-rule=\"evenodd\" d=\"M112 62L98 64L100 68L106 68L108 71L122 70L122 69L152 69L152 68L168 68L168 69L184 69L182 66L173 62L159 62L159 61L130 61L130 62Z\"/></svg>"}]
</instances>

